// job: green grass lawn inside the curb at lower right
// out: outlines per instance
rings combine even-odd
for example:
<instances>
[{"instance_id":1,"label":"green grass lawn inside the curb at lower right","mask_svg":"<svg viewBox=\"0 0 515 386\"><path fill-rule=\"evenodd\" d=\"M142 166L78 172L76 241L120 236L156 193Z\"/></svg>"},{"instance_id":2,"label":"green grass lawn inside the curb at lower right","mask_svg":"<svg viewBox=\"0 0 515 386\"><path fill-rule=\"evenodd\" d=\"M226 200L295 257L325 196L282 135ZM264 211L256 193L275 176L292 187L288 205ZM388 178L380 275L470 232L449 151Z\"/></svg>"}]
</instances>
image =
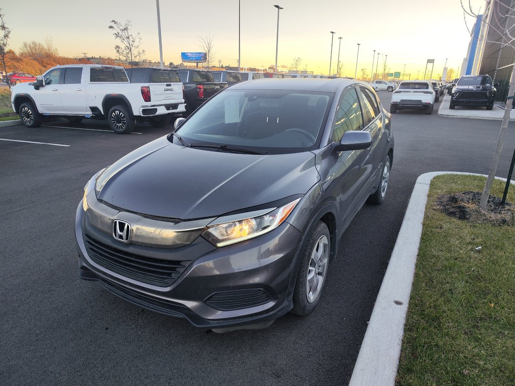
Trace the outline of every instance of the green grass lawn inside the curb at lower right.
<instances>
[{"instance_id":1,"label":"green grass lawn inside the curb at lower right","mask_svg":"<svg viewBox=\"0 0 515 386\"><path fill-rule=\"evenodd\" d=\"M434 208L439 195L480 192L485 181L448 174L431 183L397 386L515 385L515 226L469 223ZM491 194L503 190L495 181Z\"/></svg>"}]
</instances>

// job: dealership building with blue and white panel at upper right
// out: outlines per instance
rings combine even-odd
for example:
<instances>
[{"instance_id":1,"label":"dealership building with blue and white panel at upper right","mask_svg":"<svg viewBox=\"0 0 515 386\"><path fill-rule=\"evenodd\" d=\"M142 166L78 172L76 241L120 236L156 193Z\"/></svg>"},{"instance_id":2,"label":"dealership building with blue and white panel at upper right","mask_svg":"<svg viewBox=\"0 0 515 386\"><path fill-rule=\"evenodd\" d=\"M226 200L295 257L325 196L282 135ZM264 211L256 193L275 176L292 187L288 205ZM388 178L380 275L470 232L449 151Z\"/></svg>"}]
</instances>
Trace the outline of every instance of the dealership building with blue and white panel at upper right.
<instances>
[{"instance_id":1,"label":"dealership building with blue and white panel at upper right","mask_svg":"<svg viewBox=\"0 0 515 386\"><path fill-rule=\"evenodd\" d=\"M512 36L515 46L515 0L486 0L483 14L477 15L472 27L471 41L461 67L461 75L488 74L497 87L496 100L505 101L511 72L515 63L515 50L506 37Z\"/></svg>"}]
</instances>

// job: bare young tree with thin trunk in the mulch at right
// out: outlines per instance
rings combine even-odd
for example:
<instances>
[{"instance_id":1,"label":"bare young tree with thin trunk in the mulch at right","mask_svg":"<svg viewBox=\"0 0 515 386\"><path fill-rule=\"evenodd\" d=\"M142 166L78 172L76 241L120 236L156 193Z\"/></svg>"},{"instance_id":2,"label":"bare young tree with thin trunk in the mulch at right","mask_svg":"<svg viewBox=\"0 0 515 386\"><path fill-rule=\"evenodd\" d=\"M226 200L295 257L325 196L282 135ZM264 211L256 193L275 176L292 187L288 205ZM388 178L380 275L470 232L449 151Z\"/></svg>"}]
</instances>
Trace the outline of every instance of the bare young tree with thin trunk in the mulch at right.
<instances>
[{"instance_id":1,"label":"bare young tree with thin trunk in the mulch at right","mask_svg":"<svg viewBox=\"0 0 515 386\"><path fill-rule=\"evenodd\" d=\"M466 15L474 17L476 20L479 19L483 23L487 24L489 28L492 28L502 38L502 44L501 48L504 47L510 47L512 50L515 51L515 46L513 46L513 41L515 40L515 36L511 36L510 30L515 26L515 23L512 25L506 25L502 26L499 17L505 17L509 16L513 20L513 15L509 15L510 12L515 12L514 8L511 8L507 6L506 4L503 4L499 0L493 0L492 1L492 10L491 10L491 18L489 21L485 20L482 15L478 15L477 12L474 12L472 10L472 7L469 2L468 8L466 8L463 4L463 1L460 0L461 8L464 12L464 20L465 25L467 29L469 29L467 25L467 19ZM503 12L501 12L501 7L503 6ZM506 12L507 11L507 12ZM508 23L508 22L507 22ZM470 29L469 29L470 32ZM481 202L479 203L479 207L483 210L486 210L486 206L488 204L488 198L490 197L490 190L492 189L493 180L495 179L495 172L497 171L497 166L499 166L499 160L501 159L501 151L503 150L503 144L504 144L504 137L506 136L506 131L508 128L508 121L510 118L511 113L511 105L512 105L512 99L515 95L515 65L513 66L512 72L511 72L511 79L510 79L510 87L508 90L508 96L507 96L507 102L504 109L504 115L503 115L503 121L501 124L501 130L499 132L499 138L497 138L497 145L495 146L495 152L493 155L492 164L490 165L490 171L488 172L488 178L486 180L485 188L483 189L483 195L481 196Z\"/></svg>"}]
</instances>

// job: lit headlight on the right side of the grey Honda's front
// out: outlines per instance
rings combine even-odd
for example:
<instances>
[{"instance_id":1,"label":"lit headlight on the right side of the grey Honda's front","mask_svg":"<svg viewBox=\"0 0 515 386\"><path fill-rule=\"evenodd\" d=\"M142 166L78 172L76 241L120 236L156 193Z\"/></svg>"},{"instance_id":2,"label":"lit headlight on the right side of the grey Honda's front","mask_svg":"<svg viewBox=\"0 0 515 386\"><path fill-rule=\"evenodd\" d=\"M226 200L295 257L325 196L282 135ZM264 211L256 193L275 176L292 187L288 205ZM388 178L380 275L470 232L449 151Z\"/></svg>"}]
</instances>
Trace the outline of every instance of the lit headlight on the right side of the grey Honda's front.
<instances>
[{"instance_id":1,"label":"lit headlight on the right side of the grey Honda's front","mask_svg":"<svg viewBox=\"0 0 515 386\"><path fill-rule=\"evenodd\" d=\"M270 212L258 217L245 218L245 214L242 214L241 220L208 226L202 236L216 247L225 247L225 245L264 235L281 225L299 201L300 198L280 208L271 208Z\"/></svg>"}]
</instances>

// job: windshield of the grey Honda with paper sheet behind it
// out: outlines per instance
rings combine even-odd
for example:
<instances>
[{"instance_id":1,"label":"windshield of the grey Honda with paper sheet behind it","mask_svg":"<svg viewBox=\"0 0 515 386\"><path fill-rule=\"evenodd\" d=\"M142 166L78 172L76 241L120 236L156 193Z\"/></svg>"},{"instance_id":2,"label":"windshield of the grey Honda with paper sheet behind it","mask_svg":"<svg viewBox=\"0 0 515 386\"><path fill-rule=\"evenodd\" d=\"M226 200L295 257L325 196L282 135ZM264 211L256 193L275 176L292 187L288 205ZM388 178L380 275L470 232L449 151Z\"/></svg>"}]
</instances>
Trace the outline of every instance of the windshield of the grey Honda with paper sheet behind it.
<instances>
[{"instance_id":1,"label":"windshield of the grey Honda with paper sheet behind it","mask_svg":"<svg viewBox=\"0 0 515 386\"><path fill-rule=\"evenodd\" d=\"M272 154L313 150L332 98L332 93L308 91L227 90L207 101L177 133L192 147L227 145Z\"/></svg>"}]
</instances>

